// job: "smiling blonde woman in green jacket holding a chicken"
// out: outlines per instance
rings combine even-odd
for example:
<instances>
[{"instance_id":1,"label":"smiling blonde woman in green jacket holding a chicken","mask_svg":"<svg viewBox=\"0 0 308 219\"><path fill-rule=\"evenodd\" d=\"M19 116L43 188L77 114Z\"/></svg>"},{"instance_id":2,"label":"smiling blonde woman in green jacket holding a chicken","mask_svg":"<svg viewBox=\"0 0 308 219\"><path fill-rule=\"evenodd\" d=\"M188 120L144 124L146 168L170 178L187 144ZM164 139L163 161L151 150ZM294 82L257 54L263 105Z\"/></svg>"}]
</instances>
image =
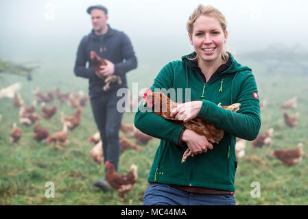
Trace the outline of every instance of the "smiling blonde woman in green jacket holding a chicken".
<instances>
[{"instance_id":1,"label":"smiling blonde woman in green jacket holding a chicken","mask_svg":"<svg viewBox=\"0 0 308 219\"><path fill-rule=\"evenodd\" d=\"M194 52L169 62L154 79L156 88L190 89L190 101L171 112L180 120L196 116L224 129L219 144L161 118L139 110L134 125L161 139L144 194L145 205L235 205L235 137L254 140L261 126L257 84L251 69L224 51L228 38L224 15L211 5L198 5L187 22ZM230 112L217 104L241 103ZM195 154L181 164L187 149Z\"/></svg>"}]
</instances>

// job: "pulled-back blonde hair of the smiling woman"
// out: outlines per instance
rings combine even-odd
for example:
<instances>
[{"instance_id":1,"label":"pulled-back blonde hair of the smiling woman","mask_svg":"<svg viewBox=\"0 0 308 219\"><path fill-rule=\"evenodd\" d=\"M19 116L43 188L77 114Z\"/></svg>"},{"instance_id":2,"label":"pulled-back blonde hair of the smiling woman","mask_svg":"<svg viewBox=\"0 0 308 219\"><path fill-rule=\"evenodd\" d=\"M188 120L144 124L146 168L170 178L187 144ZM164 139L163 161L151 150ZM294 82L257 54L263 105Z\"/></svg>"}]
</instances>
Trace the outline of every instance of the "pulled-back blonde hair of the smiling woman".
<instances>
[{"instance_id":1,"label":"pulled-back blonde hair of the smiling woman","mask_svg":"<svg viewBox=\"0 0 308 219\"><path fill-rule=\"evenodd\" d=\"M220 26L222 27L224 34L226 33L226 18L224 14L222 14L220 10L218 10L217 8L214 8L212 5L204 6L202 4L199 4L198 8L196 8L193 11L193 13L191 13L187 21L187 31L191 36L193 35L193 24L195 23L196 19L202 15L211 16L215 18L220 23ZM228 53L226 53L226 51L223 50L222 60L226 61L228 60L228 57L229 57ZM193 58L193 60L196 60L196 59L198 59L198 55L196 55L196 57Z\"/></svg>"}]
</instances>

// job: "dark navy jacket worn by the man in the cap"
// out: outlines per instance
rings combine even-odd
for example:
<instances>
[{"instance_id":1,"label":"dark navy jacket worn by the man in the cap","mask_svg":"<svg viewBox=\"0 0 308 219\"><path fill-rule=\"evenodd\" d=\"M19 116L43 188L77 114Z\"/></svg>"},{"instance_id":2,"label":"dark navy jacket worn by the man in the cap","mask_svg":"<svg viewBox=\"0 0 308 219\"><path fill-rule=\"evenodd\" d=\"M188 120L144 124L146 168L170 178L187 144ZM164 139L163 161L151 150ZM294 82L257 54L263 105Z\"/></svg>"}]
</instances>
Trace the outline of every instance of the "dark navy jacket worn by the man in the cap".
<instances>
[{"instance_id":1,"label":"dark navy jacket worn by the man in the cap","mask_svg":"<svg viewBox=\"0 0 308 219\"><path fill-rule=\"evenodd\" d=\"M76 76L89 79L88 90L91 97L101 96L119 88L127 88L126 73L137 68L137 57L128 36L123 31L110 28L110 25L108 27L104 35L98 36L92 30L90 34L84 36L77 51L74 73ZM115 75L121 77L121 84L111 83L109 90L106 92L103 90L105 83L95 74L90 58L91 51L95 51L99 57L115 64ZM88 68L86 62L89 63Z\"/></svg>"}]
</instances>

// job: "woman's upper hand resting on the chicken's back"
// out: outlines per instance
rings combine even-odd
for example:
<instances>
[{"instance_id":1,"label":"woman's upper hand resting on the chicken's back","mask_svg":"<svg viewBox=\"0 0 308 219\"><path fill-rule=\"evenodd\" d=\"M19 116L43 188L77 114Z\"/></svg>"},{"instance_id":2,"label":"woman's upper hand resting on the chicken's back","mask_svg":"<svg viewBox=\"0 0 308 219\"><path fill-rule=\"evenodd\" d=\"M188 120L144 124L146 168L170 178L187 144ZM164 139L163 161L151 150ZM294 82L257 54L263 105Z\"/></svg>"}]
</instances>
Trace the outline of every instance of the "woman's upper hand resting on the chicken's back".
<instances>
[{"instance_id":1,"label":"woman's upper hand resting on the chicken's back","mask_svg":"<svg viewBox=\"0 0 308 219\"><path fill-rule=\"evenodd\" d=\"M183 120L184 123L186 123L187 121L197 117L201 106L202 101L182 103L171 111L170 116L178 120Z\"/></svg>"}]
</instances>

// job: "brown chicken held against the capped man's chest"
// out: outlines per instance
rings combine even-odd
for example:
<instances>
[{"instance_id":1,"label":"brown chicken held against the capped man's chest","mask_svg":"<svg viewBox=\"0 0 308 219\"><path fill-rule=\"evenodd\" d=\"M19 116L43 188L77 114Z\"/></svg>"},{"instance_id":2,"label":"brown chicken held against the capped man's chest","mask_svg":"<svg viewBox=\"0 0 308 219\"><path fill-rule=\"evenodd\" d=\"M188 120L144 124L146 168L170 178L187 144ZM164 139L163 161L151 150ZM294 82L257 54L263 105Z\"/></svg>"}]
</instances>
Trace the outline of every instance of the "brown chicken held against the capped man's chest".
<instances>
[{"instance_id":1,"label":"brown chicken held against the capped man's chest","mask_svg":"<svg viewBox=\"0 0 308 219\"><path fill-rule=\"evenodd\" d=\"M91 51L90 53L90 57L92 60L92 64L93 64L93 68L95 70L96 73L99 73L99 71L101 70L101 66L106 66L107 65L107 61L105 59L103 59L102 57L99 57L95 51ZM115 83L117 82L118 84L121 84L121 77L117 76L117 75L110 75L108 77L100 77L101 79L103 79L106 83L106 85L103 87L103 89L106 91L110 88L110 83Z\"/></svg>"}]
</instances>

